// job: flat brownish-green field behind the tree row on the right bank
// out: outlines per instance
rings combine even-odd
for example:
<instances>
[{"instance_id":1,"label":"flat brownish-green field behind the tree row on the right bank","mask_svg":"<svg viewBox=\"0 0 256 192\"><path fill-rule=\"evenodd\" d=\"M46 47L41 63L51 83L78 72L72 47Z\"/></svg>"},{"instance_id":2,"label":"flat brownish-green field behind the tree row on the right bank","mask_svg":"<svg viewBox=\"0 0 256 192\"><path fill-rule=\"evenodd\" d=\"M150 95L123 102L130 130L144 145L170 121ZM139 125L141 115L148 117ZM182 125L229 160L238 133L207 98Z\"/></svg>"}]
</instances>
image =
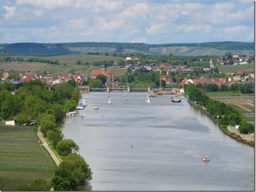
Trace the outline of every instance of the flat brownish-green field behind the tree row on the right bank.
<instances>
[{"instance_id":1,"label":"flat brownish-green field behind the tree row on the right bank","mask_svg":"<svg viewBox=\"0 0 256 192\"><path fill-rule=\"evenodd\" d=\"M212 99L220 100L226 105L231 105L241 112L248 122L255 123L255 96L254 94L237 94L233 92L210 92L207 93Z\"/></svg>"}]
</instances>

